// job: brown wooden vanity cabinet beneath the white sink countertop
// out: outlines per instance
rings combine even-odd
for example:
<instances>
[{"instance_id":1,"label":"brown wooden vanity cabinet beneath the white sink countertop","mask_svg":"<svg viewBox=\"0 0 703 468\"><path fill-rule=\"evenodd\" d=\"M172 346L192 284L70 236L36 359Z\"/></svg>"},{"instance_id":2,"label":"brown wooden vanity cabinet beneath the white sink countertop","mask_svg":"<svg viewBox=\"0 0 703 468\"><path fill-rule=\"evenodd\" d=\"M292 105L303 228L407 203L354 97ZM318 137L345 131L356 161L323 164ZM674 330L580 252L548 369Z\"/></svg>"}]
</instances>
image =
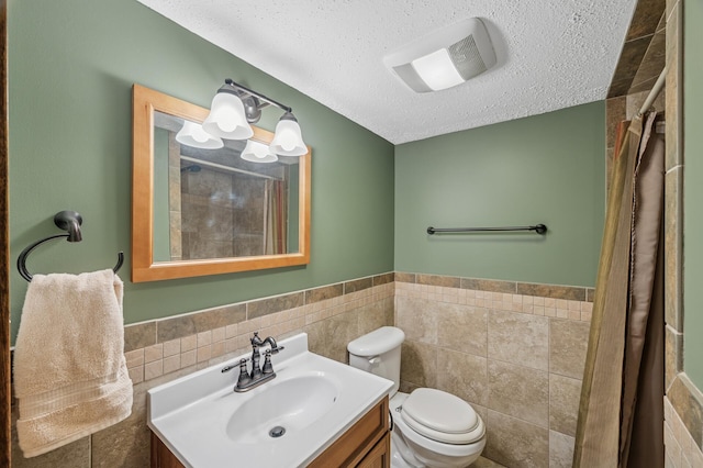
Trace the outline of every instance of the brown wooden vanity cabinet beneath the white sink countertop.
<instances>
[{"instance_id":1,"label":"brown wooden vanity cabinet beneath the white sink countertop","mask_svg":"<svg viewBox=\"0 0 703 468\"><path fill-rule=\"evenodd\" d=\"M342 434L310 468L390 468L391 434L388 397ZM168 447L152 433L152 468L185 468Z\"/></svg>"}]
</instances>

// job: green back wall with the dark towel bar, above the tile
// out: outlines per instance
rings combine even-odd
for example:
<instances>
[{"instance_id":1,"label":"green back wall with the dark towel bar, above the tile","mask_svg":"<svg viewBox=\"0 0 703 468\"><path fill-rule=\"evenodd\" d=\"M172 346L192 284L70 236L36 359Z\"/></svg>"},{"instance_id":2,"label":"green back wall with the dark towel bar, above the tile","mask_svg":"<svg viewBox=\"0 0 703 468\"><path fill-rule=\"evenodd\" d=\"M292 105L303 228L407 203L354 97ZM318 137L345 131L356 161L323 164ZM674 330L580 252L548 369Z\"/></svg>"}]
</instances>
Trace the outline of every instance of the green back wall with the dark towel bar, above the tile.
<instances>
[{"instance_id":1,"label":"green back wall with the dark towel bar, above the tile","mask_svg":"<svg viewBox=\"0 0 703 468\"><path fill-rule=\"evenodd\" d=\"M605 107L596 102L395 148L395 269L593 286L604 216ZM427 226L544 223L528 234Z\"/></svg>"}]
</instances>

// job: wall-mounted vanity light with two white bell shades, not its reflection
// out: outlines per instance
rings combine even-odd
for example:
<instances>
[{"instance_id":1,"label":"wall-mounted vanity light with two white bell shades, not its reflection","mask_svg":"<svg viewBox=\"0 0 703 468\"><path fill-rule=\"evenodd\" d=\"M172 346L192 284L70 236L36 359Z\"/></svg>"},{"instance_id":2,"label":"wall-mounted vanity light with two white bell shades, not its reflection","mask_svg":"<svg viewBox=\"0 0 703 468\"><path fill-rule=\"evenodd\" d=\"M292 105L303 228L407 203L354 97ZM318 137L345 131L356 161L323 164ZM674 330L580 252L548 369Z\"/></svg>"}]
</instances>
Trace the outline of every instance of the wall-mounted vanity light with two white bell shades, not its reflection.
<instances>
[{"instance_id":1,"label":"wall-mounted vanity light with two white bell shades, not its reflection","mask_svg":"<svg viewBox=\"0 0 703 468\"><path fill-rule=\"evenodd\" d=\"M276 134L269 146L280 156L303 156L308 146L303 142L300 125L292 109L264 94L253 91L227 78L212 100L210 114L202 124L205 132L225 140L248 140L254 136L249 123L258 122L261 109L274 105L284 111L276 125Z\"/></svg>"}]
</instances>

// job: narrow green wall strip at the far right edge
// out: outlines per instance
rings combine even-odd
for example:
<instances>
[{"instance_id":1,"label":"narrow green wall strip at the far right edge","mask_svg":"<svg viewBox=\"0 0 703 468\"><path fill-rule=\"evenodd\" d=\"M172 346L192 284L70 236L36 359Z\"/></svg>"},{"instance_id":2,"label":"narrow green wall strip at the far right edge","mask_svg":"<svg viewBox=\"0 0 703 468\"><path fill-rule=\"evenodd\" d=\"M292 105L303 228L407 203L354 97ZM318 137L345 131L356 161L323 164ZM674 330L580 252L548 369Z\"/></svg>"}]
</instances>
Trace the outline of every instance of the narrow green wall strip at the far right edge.
<instances>
[{"instance_id":1,"label":"narrow green wall strip at the far right edge","mask_svg":"<svg viewBox=\"0 0 703 468\"><path fill-rule=\"evenodd\" d=\"M703 389L703 2L683 3L683 366Z\"/></svg>"}]
</instances>

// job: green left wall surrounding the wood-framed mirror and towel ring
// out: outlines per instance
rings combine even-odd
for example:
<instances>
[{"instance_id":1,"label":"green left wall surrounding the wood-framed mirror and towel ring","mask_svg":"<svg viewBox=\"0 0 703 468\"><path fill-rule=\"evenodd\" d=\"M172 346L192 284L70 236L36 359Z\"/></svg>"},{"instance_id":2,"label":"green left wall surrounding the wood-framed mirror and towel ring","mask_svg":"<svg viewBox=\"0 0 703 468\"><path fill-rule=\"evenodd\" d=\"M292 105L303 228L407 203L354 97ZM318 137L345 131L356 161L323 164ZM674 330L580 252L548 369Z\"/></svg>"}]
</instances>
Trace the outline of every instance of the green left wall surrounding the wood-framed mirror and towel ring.
<instances>
[{"instance_id":1,"label":"green left wall surrounding the wood-framed mirror and towel ring","mask_svg":"<svg viewBox=\"0 0 703 468\"><path fill-rule=\"evenodd\" d=\"M11 0L8 10L12 258L58 232L54 213L85 219L83 242L40 247L30 271L102 269L123 249L133 323L393 269L393 145L136 1ZM132 83L209 107L227 77L291 105L313 148L311 264L133 285ZM265 114L272 130L278 115ZM26 283L14 269L10 282L14 336Z\"/></svg>"}]
</instances>

